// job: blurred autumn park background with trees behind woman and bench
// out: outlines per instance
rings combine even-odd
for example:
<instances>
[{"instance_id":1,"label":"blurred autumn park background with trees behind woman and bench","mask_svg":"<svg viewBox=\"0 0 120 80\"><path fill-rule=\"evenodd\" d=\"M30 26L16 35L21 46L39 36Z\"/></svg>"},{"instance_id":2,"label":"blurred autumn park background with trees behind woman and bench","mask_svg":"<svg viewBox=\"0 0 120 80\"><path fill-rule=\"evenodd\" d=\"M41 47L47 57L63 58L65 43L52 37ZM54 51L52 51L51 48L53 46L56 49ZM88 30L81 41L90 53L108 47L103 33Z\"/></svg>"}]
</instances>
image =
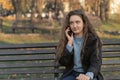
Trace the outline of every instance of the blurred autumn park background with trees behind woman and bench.
<instances>
[{"instance_id":1,"label":"blurred autumn park background with trees behind woman and bench","mask_svg":"<svg viewBox=\"0 0 120 80\"><path fill-rule=\"evenodd\" d=\"M58 42L65 15L83 9L101 39L120 40L120 0L0 0L0 44Z\"/></svg>"}]
</instances>

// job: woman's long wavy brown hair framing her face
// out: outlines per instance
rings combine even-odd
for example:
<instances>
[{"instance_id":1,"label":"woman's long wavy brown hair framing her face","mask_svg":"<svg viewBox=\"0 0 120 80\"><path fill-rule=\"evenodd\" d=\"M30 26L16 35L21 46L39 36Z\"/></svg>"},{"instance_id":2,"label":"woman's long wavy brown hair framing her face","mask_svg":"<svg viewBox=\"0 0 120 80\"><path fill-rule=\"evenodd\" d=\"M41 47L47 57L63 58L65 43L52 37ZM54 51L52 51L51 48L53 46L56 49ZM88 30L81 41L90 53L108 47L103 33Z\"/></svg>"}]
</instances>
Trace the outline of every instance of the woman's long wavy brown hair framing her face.
<instances>
[{"instance_id":1,"label":"woman's long wavy brown hair framing her face","mask_svg":"<svg viewBox=\"0 0 120 80\"><path fill-rule=\"evenodd\" d=\"M83 47L82 50L84 49L85 45L86 45L86 40L88 39L88 34L91 33L92 35L97 37L97 34L95 32L95 29L93 28L92 24L90 23L88 17L86 16L85 12L83 10L73 10L70 11L64 21L62 30L61 30L61 38L59 40L58 46L57 46L57 52L56 52L56 61L58 61L61 57L63 53L63 50L66 47L67 44L67 37L65 36L65 30L67 29L67 27L70 26L70 17L73 15L77 15L79 17L82 18L83 23L84 23L84 27L83 27ZM84 53L84 51L82 51Z\"/></svg>"}]
</instances>

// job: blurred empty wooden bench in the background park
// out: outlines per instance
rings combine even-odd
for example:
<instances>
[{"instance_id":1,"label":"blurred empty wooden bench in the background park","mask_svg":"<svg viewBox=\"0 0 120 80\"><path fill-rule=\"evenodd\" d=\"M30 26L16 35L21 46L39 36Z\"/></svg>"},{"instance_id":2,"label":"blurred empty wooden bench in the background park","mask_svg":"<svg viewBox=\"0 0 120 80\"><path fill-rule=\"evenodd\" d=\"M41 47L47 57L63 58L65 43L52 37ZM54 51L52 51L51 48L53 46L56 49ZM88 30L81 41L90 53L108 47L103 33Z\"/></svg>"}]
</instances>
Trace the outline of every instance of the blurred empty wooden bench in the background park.
<instances>
[{"instance_id":1,"label":"blurred empty wooden bench in the background park","mask_svg":"<svg viewBox=\"0 0 120 80\"><path fill-rule=\"evenodd\" d=\"M16 33L17 30L31 30L32 33L35 32L35 30L41 30L41 32L49 32L50 34L53 34L54 31L58 31L60 27L55 28L48 19L43 20L16 20L12 24L12 32Z\"/></svg>"}]
</instances>

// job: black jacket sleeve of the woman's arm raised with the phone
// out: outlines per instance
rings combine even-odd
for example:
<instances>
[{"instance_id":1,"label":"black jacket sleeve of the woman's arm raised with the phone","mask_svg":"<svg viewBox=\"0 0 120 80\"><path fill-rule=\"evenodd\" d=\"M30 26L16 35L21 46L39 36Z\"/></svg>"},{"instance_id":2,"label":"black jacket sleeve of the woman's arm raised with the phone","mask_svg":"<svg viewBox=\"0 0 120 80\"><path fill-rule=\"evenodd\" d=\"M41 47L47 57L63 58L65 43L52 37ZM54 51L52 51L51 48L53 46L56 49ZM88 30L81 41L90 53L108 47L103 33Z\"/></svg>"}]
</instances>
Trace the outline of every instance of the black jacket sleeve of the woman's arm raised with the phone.
<instances>
[{"instance_id":1,"label":"black jacket sleeve of the woman's arm raised with the phone","mask_svg":"<svg viewBox=\"0 0 120 80\"><path fill-rule=\"evenodd\" d=\"M72 65L73 62L73 51L69 52L67 48L64 49L63 54L59 60L59 63L62 66L69 66Z\"/></svg>"}]
</instances>

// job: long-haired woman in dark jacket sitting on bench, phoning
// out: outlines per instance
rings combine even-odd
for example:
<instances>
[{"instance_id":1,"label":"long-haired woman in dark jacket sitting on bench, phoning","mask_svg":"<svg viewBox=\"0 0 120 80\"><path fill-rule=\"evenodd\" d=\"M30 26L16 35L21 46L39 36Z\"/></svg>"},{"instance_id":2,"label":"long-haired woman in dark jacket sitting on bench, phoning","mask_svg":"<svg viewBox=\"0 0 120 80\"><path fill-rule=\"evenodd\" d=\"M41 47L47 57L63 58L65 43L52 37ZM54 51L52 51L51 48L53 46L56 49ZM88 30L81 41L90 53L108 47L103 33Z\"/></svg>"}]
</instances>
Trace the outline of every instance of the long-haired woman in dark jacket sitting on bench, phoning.
<instances>
[{"instance_id":1,"label":"long-haired woman in dark jacket sitting on bench, phoning","mask_svg":"<svg viewBox=\"0 0 120 80\"><path fill-rule=\"evenodd\" d=\"M101 46L84 11L70 11L57 47L57 61L65 66L61 80L104 80Z\"/></svg>"}]
</instances>

